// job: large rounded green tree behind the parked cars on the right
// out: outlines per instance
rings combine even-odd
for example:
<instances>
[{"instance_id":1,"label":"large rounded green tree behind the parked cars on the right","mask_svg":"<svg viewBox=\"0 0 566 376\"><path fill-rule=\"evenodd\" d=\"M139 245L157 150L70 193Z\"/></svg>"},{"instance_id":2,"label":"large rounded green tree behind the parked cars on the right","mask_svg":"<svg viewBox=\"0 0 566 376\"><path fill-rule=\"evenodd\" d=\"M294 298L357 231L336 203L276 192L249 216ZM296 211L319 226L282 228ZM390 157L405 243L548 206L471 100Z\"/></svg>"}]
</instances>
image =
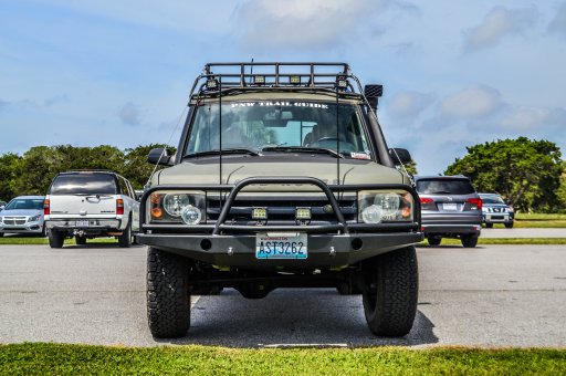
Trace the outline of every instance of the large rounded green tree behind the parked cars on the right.
<instances>
[{"instance_id":1,"label":"large rounded green tree behind the parked cars on the right","mask_svg":"<svg viewBox=\"0 0 566 376\"><path fill-rule=\"evenodd\" d=\"M556 191L563 165L556 144L518 137L467 149L468 155L457 158L446 175L465 175L479 191L499 192L520 210L558 208Z\"/></svg>"}]
</instances>

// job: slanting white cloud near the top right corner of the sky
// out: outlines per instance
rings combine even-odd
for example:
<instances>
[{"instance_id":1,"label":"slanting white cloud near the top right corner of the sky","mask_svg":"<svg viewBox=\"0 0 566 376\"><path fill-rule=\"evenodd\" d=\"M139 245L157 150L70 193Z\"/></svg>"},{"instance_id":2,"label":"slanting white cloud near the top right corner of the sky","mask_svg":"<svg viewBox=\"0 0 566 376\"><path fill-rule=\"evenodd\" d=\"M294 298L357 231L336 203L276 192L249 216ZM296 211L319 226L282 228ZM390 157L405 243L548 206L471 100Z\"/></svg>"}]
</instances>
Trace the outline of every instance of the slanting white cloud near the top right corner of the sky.
<instances>
[{"instance_id":1,"label":"slanting white cloud near the top right corner of the sky","mask_svg":"<svg viewBox=\"0 0 566 376\"><path fill-rule=\"evenodd\" d=\"M465 50L475 51L497 45L505 36L521 34L535 23L536 8L493 8L475 28L464 30Z\"/></svg>"}]
</instances>

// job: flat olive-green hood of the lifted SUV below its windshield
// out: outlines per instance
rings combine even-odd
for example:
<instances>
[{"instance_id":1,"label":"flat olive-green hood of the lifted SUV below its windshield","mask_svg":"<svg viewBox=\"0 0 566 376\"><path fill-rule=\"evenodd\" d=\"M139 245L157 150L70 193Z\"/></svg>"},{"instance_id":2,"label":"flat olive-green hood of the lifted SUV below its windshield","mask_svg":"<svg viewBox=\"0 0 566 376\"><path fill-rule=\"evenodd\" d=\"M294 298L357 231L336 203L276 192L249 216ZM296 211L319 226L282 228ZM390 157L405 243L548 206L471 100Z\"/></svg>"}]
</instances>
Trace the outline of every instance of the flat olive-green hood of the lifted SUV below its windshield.
<instances>
[{"instance_id":1,"label":"flat olive-green hood of the lifted SUV below its windshield","mask_svg":"<svg viewBox=\"0 0 566 376\"><path fill-rule=\"evenodd\" d=\"M326 184L337 184L337 161L329 157L296 155L295 158L226 157L222 159L222 184L235 184L249 177L314 177ZM218 158L190 160L155 174L151 185L219 184ZM340 159L340 184L408 184L395 168L374 161Z\"/></svg>"}]
</instances>

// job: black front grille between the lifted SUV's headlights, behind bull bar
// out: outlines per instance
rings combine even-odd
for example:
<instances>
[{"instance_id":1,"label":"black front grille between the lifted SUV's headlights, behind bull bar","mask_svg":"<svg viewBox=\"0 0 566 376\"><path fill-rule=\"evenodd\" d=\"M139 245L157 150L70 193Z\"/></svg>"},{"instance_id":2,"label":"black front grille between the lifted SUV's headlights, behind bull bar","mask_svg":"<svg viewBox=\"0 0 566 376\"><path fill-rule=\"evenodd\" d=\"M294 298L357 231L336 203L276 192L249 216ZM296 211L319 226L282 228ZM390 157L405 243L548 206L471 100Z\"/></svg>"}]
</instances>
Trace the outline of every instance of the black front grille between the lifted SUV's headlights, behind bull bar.
<instances>
[{"instance_id":1,"label":"black front grille between the lifted SUV's headlights, behind bull bar","mask_svg":"<svg viewBox=\"0 0 566 376\"><path fill-rule=\"evenodd\" d=\"M219 196L207 198L207 219L216 222L226 200ZM357 221L357 199L355 197L338 199L342 213L346 221ZM295 223L296 208L311 208L311 222L336 223L336 215L329 210L328 199L324 197L238 197L230 210L227 222L250 223L253 208L268 209L268 223Z\"/></svg>"}]
</instances>

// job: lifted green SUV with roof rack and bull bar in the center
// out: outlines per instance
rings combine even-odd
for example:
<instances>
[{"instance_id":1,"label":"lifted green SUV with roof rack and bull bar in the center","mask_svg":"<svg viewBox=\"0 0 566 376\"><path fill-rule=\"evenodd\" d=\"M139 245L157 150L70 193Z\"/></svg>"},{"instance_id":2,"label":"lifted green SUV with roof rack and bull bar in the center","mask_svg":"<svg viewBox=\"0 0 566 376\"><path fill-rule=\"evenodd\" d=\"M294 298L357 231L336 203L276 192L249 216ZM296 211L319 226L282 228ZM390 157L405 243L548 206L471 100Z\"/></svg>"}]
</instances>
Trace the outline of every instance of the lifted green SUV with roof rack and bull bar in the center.
<instances>
[{"instance_id":1,"label":"lifted green SUV with roof rack and bull bar in the center","mask_svg":"<svg viewBox=\"0 0 566 376\"><path fill-rule=\"evenodd\" d=\"M168 166L140 203L155 337L185 336L190 295L223 288L336 288L361 294L376 335L409 333L420 201L409 153L381 133L381 92L344 63L205 66L176 155L148 156Z\"/></svg>"}]
</instances>

